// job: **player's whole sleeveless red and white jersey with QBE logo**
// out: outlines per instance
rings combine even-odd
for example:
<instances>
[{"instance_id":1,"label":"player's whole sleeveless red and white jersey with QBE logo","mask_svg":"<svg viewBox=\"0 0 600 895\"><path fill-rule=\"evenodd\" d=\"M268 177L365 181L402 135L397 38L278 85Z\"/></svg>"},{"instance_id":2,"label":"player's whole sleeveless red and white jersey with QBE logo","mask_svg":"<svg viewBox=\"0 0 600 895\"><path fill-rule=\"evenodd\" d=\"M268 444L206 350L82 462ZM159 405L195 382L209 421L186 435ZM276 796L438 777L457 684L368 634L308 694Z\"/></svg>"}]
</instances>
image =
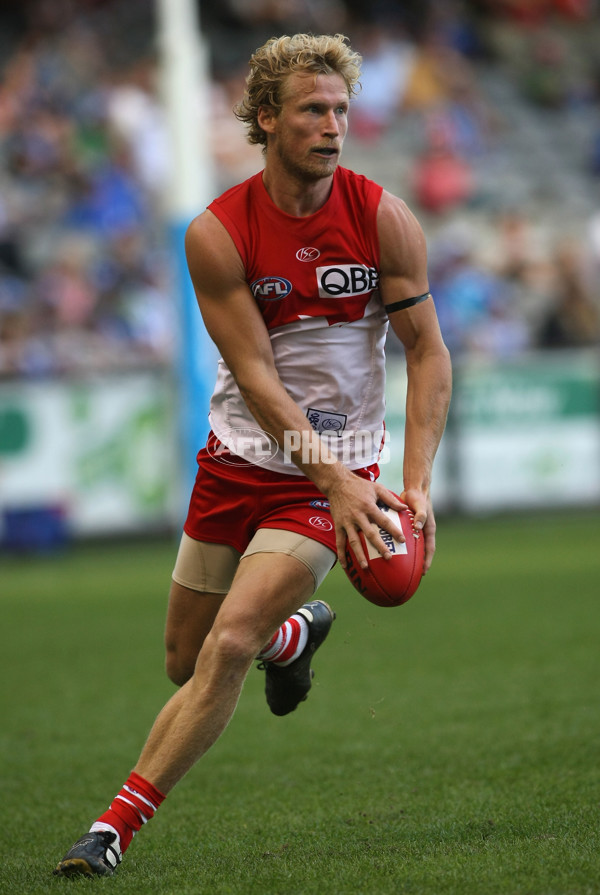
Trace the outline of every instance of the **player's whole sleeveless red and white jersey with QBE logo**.
<instances>
[{"instance_id":1,"label":"player's whole sleeveless red and white jersey with QBE logo","mask_svg":"<svg viewBox=\"0 0 600 895\"><path fill-rule=\"evenodd\" d=\"M376 462L383 431L387 316L378 292L381 193L373 181L338 167L322 208L294 217L273 203L261 172L209 205L242 259L284 386L352 469ZM248 455L247 442L240 450L235 433L257 423L222 360L210 420L233 453L297 474L281 452L265 461L262 455L253 458L251 449Z\"/></svg>"}]
</instances>

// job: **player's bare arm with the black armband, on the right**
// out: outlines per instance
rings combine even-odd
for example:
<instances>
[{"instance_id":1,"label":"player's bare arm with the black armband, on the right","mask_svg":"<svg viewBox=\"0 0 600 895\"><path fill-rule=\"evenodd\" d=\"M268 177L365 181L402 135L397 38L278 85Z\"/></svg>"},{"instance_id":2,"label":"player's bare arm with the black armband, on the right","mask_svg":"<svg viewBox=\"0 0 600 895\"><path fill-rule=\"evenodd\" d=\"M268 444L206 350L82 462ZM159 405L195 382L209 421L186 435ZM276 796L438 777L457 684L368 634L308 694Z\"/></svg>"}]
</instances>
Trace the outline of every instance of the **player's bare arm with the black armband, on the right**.
<instances>
[{"instance_id":1,"label":"player's bare arm with the black armband, on the right","mask_svg":"<svg viewBox=\"0 0 600 895\"><path fill-rule=\"evenodd\" d=\"M429 293L423 231L404 202L387 192L380 203L378 231L381 298L404 346L408 374L400 497L414 512L415 525L423 528L427 571L435 552L436 530L431 475L450 404L450 355Z\"/></svg>"}]
</instances>

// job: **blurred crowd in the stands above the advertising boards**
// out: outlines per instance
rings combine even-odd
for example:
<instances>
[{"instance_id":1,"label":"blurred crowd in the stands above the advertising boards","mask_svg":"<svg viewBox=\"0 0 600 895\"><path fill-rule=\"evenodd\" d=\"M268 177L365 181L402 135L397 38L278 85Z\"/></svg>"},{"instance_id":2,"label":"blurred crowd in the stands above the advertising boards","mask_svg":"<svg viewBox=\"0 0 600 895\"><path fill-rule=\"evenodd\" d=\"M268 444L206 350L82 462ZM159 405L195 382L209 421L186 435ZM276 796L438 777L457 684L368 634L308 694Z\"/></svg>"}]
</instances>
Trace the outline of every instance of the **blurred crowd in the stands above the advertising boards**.
<instances>
[{"instance_id":1,"label":"blurred crowd in the stands above the advertising boards","mask_svg":"<svg viewBox=\"0 0 600 895\"><path fill-rule=\"evenodd\" d=\"M200 2L199 12L215 194L261 165L231 113L252 50L273 34L342 31L364 57L354 151L368 157L376 147L402 172L384 185L425 225L431 287L455 356L600 345L592 0L222 0ZM0 377L173 361L157 47L151 0L2 5ZM486 90L489 72L509 79L550 128L565 116L599 122L565 162L578 168L588 200L575 224L550 186L526 202L501 201L498 171L510 176L517 163L510 121Z\"/></svg>"}]
</instances>

